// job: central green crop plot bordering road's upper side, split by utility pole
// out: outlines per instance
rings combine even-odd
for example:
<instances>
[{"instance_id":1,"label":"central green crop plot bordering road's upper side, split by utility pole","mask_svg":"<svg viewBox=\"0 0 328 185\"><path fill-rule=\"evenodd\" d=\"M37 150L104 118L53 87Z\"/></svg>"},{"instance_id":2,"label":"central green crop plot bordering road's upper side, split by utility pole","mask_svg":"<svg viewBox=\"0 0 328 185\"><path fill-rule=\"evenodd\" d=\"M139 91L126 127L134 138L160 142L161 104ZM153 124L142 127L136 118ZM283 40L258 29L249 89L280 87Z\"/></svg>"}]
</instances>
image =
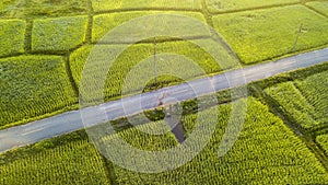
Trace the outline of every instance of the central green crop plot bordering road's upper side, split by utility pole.
<instances>
[{"instance_id":1,"label":"central green crop plot bordering road's upper side, split by utility pole","mask_svg":"<svg viewBox=\"0 0 328 185\"><path fill-rule=\"evenodd\" d=\"M218 44L211 39L198 41L203 44ZM107 74L105 83L105 96L114 97L122 94L134 93L136 91L142 91L147 88L144 80L153 81L155 78L155 70L157 71L157 82L180 82L176 78L183 80L191 80L199 76L206 76L210 73L220 72L224 69L231 69L237 67L237 62L225 49L221 47L221 63L218 63L212 56L206 53L202 48L190 42L167 42L159 43L156 45L156 67L153 62L153 45L152 44L137 44L128 47L121 55L117 56L115 62L109 68L108 65L103 62L103 58L106 58L106 54L116 51L127 47L128 45L96 45L81 47L70 56L70 66L72 69L73 78L77 84L83 85L84 90L92 91L90 89L94 83L81 84L81 78L86 82L92 80L98 80L98 76ZM219 50L216 50L218 53ZM90 54L99 59L89 59ZM167 59L163 58L165 54L180 55L190 60L185 62L181 58ZM148 60L145 60L148 59ZM143 61L145 60L145 61ZM84 73L82 70L87 61L87 69ZM196 66L195 66L196 65ZM108 67L108 69L106 69ZM156 69L155 69L156 68ZM132 76L128 76L131 74ZM91 73L90 73L91 72ZM167 74L167 76L162 76ZM136 77L133 74L137 74ZM171 76L171 77L168 77ZM172 78L172 77L176 78ZM129 78L128 78L129 77ZM130 78L134 77L134 78ZM99 77L101 78L101 77ZM149 78L149 79L148 79ZM90 85L90 86L89 86ZM122 91L122 86L127 88L127 91ZM101 86L102 88L102 86ZM81 92L83 95L83 92Z\"/></svg>"}]
</instances>

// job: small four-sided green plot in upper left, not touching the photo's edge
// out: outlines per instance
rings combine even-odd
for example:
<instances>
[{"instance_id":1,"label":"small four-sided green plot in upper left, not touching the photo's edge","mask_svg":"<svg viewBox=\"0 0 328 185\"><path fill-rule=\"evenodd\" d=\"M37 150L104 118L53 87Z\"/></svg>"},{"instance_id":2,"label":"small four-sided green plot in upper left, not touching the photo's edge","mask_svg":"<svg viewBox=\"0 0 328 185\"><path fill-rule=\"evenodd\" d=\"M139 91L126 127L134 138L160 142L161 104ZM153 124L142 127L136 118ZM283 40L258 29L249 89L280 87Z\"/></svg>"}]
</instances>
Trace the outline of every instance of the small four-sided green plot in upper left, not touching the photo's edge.
<instances>
[{"instance_id":1,"label":"small four-sided green plot in upper left, not touching the photo's edge","mask_svg":"<svg viewBox=\"0 0 328 185\"><path fill-rule=\"evenodd\" d=\"M33 51L61 51L85 39L86 16L36 20L32 32Z\"/></svg>"}]
</instances>

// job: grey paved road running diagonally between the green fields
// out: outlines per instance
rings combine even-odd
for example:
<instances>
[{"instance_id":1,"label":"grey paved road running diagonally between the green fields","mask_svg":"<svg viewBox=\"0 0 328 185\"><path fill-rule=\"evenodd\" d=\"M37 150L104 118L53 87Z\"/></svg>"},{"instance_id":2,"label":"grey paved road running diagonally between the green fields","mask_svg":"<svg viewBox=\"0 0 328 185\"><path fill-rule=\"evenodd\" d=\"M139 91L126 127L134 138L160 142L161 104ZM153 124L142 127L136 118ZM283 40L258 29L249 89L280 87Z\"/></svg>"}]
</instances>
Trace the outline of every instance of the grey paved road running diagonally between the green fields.
<instances>
[{"instance_id":1,"label":"grey paved road running diagonally between the green fields","mask_svg":"<svg viewBox=\"0 0 328 185\"><path fill-rule=\"evenodd\" d=\"M12 127L0 131L0 152L35 143L46 138L71 132L115 119L125 115L139 113L159 106L159 99L167 93L171 101L185 101L197 95L238 86L251 81L272 77L278 73L305 68L328 61L328 48L296 55L281 60L233 70L211 78L203 78L187 83L164 88L154 92L125 97L98 106L72 111L50 118ZM125 107L125 108L124 108ZM81 114L82 113L82 114ZM83 115L83 116L81 116ZM83 123L82 123L83 117Z\"/></svg>"}]
</instances>

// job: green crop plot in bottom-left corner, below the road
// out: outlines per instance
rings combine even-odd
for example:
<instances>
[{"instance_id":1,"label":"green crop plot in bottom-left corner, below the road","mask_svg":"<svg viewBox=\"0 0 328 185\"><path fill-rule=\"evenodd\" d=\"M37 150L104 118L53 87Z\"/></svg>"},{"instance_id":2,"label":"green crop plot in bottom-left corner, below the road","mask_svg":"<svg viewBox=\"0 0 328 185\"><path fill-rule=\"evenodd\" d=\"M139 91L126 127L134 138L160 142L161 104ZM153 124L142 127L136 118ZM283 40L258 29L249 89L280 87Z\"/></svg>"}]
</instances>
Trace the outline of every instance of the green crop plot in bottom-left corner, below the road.
<instances>
[{"instance_id":1,"label":"green crop plot in bottom-left corner, below the road","mask_svg":"<svg viewBox=\"0 0 328 185\"><path fill-rule=\"evenodd\" d=\"M63 144L42 141L28 150L0 162L0 184L110 184L102 157L86 139Z\"/></svg>"}]
</instances>

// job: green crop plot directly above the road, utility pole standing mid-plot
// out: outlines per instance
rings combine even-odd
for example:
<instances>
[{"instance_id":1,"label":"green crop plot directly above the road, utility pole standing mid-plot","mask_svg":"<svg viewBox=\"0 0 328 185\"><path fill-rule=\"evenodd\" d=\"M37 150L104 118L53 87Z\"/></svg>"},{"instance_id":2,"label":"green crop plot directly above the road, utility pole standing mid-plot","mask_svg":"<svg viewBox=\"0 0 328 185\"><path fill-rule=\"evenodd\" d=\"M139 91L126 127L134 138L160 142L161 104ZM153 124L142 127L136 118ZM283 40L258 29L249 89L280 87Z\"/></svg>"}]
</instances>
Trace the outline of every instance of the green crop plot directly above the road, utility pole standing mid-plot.
<instances>
[{"instance_id":1,"label":"green crop plot directly above the road, utility pole standing mid-plot","mask_svg":"<svg viewBox=\"0 0 328 185\"><path fill-rule=\"evenodd\" d=\"M210 39L203 39L199 41L204 44L218 44L213 43L213 41ZM124 45L98 45L97 46L97 53L99 53L98 56L103 56L103 54L108 54L108 49L119 49L120 47L124 47ZM78 49L75 53L71 55L70 59L70 66L72 69L73 78L78 85L80 84L82 70L84 68L84 65L86 62L86 59L92 50L93 46L86 46ZM216 47L220 48L220 47ZM201 49L199 46L196 46L192 43L189 42L167 42L167 43L159 43L156 45L156 51L157 51L157 61L156 61L156 69L161 70L161 72L167 72L174 73L175 71L178 71L185 79L192 79L198 76L209 74L209 73L215 73L221 71L222 69L230 69L233 67L237 67L237 63L235 59L224 50L223 47L221 47L220 53L221 55L221 63L219 65L212 56L210 56L208 53L206 53L203 49ZM219 50L216 50L218 53ZM198 65L202 71L195 71L194 69L189 69L184 65L181 60L164 60L161 59L161 54L176 54L176 55L183 55L187 58L189 58L194 63ZM134 78L134 81L128 81L128 84L131 84L133 88L131 88L131 92L133 91L140 91L143 88L143 84L141 83L142 80L144 80L144 77L155 77L154 74L154 66L152 60L152 54L153 54L153 45L152 44L136 44L130 47L128 47L113 63L110 67L110 70L108 71L107 81L106 81L106 88L105 88L105 95L106 97L114 97L114 96L120 96L121 95L121 86L125 82L125 79L129 71L132 69L139 69L138 73L139 76ZM141 61L148 59L149 62L144 62L148 65L141 65ZM91 61L92 62L92 61ZM106 59L104 59L104 62L106 62ZM106 66L106 65L105 65ZM107 69L104 69L104 65L94 65L92 67L92 77L96 77L99 71L104 71ZM160 72L160 71L159 71ZM159 83L164 82L180 82L177 79L169 78L169 77L160 77Z\"/></svg>"}]
</instances>

